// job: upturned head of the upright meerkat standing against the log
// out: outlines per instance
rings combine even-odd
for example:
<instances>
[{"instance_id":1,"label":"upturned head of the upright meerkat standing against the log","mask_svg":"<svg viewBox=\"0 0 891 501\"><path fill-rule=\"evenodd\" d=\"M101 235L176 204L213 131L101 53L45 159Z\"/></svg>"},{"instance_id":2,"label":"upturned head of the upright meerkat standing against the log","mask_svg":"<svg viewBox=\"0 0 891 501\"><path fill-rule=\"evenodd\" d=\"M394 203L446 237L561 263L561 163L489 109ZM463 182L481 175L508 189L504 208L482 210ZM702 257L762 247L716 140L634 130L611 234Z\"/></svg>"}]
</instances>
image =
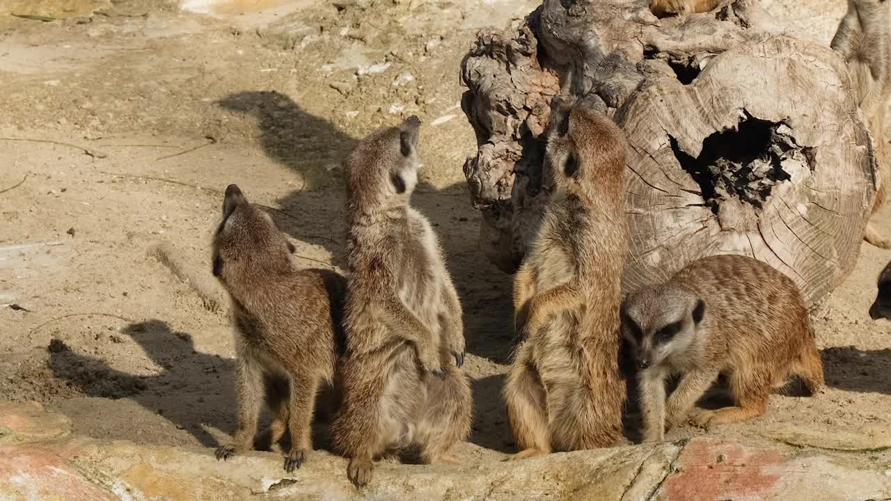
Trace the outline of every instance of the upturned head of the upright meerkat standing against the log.
<instances>
[{"instance_id":1,"label":"upturned head of the upright meerkat standing against the log","mask_svg":"<svg viewBox=\"0 0 891 501\"><path fill-rule=\"evenodd\" d=\"M597 96L552 103L544 159L554 193L586 193L590 186L609 181L606 177L622 176L625 142L603 109Z\"/></svg>"}]
</instances>

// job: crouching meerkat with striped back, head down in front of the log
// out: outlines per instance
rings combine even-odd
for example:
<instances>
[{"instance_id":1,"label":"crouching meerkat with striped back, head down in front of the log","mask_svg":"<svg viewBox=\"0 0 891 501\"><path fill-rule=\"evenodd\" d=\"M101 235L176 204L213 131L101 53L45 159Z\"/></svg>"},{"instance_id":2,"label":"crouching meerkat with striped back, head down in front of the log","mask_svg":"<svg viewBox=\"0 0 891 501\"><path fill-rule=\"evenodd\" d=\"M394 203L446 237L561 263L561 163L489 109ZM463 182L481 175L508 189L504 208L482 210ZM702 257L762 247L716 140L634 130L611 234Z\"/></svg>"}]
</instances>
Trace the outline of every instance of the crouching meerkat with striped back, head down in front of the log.
<instances>
[{"instance_id":1,"label":"crouching meerkat with striped back, head down in front of the log","mask_svg":"<svg viewBox=\"0 0 891 501\"><path fill-rule=\"evenodd\" d=\"M693 422L739 423L767 410L773 388L796 374L812 393L823 385L805 301L770 265L737 255L694 261L668 282L629 294L622 333L637 359L645 441L686 419L719 374L735 406L699 410ZM681 380L666 402L666 379Z\"/></svg>"}]
</instances>

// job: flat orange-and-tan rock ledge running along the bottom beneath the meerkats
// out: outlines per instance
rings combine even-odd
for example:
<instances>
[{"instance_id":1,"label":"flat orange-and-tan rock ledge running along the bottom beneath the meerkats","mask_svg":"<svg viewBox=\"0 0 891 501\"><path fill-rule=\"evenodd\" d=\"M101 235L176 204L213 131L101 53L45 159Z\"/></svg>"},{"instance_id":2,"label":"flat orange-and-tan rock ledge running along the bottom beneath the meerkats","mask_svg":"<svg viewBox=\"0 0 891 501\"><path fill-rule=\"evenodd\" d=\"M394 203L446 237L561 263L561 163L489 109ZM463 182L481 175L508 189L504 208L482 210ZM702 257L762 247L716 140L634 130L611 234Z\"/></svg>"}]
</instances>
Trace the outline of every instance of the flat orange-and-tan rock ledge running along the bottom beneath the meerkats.
<instances>
[{"instance_id":1,"label":"flat orange-and-tan rock ledge running along the bottom beneath the meerkats","mask_svg":"<svg viewBox=\"0 0 891 501\"><path fill-rule=\"evenodd\" d=\"M52 415L52 413L44 413ZM20 416L23 415L23 416ZM38 420L34 421L35 415ZM37 407L0 402L8 423L39 423ZM55 418L53 418L55 419ZM53 421L46 421L53 425ZM210 448L21 435L0 444L0 499L298 500L867 500L891 496L887 451L838 452L781 442L699 437L553 454L475 467L382 462L355 489L346 461L316 451L294 474L282 456L253 452L225 462ZM47 438L50 437L50 438Z\"/></svg>"}]
</instances>

